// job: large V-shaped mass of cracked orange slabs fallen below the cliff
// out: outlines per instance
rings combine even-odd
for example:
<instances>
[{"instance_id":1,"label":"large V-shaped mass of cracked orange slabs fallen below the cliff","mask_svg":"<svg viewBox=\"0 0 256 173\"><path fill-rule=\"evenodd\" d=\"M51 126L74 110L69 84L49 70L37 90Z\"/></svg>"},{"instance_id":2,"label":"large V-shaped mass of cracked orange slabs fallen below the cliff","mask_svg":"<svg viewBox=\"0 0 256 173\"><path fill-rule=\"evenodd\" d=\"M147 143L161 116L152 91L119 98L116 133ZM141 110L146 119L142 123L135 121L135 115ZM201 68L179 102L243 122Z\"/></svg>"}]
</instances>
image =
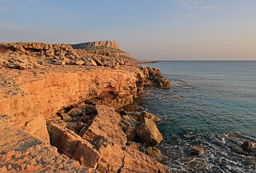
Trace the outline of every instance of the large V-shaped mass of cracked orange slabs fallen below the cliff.
<instances>
[{"instance_id":1,"label":"large V-shaped mass of cracked orange slabs fallen below the cliff","mask_svg":"<svg viewBox=\"0 0 256 173\"><path fill-rule=\"evenodd\" d=\"M50 122L47 126L51 144L71 159L100 173L170 172L164 165L137 149L125 146L118 128L120 115L105 105L96 106L97 115L80 137L74 131ZM121 139L121 140L120 140Z\"/></svg>"}]
</instances>

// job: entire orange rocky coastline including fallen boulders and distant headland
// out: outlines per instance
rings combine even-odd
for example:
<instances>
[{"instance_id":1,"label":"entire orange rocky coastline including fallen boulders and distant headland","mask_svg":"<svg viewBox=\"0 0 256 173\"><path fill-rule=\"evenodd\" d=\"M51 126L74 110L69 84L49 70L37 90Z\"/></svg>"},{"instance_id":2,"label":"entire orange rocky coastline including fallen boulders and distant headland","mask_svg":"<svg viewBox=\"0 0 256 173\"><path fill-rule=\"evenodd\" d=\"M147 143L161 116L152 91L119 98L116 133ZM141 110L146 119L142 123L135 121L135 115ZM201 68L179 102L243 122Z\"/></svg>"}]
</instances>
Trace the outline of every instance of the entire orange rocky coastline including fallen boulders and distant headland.
<instances>
[{"instance_id":1,"label":"entire orange rocky coastline including fallen boulders and distant headland","mask_svg":"<svg viewBox=\"0 0 256 173\"><path fill-rule=\"evenodd\" d=\"M120 109L170 81L116 42L81 45L0 43L0 172L170 172L132 143L160 143L159 119Z\"/></svg>"}]
</instances>

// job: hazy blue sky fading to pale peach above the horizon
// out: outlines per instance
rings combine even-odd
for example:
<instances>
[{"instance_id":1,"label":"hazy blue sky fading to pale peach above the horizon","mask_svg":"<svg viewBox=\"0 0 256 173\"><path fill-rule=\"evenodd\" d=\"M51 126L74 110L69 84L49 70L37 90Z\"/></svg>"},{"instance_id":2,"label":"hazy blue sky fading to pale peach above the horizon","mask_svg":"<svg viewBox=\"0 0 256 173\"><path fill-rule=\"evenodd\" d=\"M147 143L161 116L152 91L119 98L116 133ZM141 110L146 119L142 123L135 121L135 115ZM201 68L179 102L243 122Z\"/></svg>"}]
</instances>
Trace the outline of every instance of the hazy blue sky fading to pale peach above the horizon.
<instances>
[{"instance_id":1,"label":"hazy blue sky fading to pale peach above the horizon","mask_svg":"<svg viewBox=\"0 0 256 173\"><path fill-rule=\"evenodd\" d=\"M256 0L0 0L0 42L112 40L147 60L256 60Z\"/></svg>"}]
</instances>

